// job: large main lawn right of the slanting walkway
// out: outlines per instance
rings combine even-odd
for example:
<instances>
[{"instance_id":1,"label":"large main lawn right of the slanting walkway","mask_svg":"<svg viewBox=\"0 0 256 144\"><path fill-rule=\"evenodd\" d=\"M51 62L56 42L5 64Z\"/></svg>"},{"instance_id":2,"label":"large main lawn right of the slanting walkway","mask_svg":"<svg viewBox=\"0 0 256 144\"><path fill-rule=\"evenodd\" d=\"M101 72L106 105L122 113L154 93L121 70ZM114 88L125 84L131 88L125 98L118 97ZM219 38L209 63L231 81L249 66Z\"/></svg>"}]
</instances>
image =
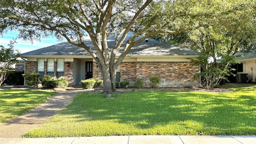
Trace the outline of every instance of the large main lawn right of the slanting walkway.
<instances>
[{"instance_id":1,"label":"large main lawn right of the slanting walkway","mask_svg":"<svg viewBox=\"0 0 256 144\"><path fill-rule=\"evenodd\" d=\"M80 93L25 137L255 135L256 85L234 90Z\"/></svg>"}]
</instances>

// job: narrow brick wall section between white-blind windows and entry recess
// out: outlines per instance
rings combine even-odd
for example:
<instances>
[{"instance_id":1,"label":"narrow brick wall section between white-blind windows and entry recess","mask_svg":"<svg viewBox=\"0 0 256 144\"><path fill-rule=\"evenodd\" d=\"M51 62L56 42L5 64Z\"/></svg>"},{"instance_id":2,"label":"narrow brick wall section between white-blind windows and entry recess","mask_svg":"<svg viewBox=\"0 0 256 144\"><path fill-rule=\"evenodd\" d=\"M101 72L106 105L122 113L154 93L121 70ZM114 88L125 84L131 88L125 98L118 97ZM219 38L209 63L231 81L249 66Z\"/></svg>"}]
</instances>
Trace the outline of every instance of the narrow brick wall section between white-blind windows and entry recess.
<instances>
[{"instance_id":1,"label":"narrow brick wall section between white-blind windows and entry recess","mask_svg":"<svg viewBox=\"0 0 256 144\"><path fill-rule=\"evenodd\" d=\"M74 62L64 62L64 74L63 76L68 80L68 86L73 85L73 68L74 68Z\"/></svg>"}]
</instances>

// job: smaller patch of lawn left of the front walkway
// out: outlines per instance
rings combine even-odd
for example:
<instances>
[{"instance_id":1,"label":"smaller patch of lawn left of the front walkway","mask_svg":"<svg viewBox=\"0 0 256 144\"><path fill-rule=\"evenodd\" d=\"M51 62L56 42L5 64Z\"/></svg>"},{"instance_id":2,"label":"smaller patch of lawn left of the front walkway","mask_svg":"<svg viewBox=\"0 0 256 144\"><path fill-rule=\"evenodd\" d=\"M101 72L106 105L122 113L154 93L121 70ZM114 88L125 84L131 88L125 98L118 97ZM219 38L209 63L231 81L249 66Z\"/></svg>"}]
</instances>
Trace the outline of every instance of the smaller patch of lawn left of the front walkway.
<instances>
[{"instance_id":1,"label":"smaller patch of lawn left of the front walkway","mask_svg":"<svg viewBox=\"0 0 256 144\"><path fill-rule=\"evenodd\" d=\"M28 112L54 94L32 89L0 90L0 123Z\"/></svg>"}]
</instances>

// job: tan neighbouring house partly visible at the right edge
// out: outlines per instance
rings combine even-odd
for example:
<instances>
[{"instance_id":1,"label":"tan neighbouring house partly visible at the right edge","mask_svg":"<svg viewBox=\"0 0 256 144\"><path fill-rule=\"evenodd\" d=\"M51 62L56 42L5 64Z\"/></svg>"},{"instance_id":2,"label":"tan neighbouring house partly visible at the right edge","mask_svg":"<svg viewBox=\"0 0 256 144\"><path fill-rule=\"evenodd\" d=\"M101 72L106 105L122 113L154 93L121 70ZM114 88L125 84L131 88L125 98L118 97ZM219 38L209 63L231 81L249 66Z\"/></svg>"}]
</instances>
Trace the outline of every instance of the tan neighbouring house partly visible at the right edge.
<instances>
[{"instance_id":1,"label":"tan neighbouring house partly visible at the right edge","mask_svg":"<svg viewBox=\"0 0 256 144\"><path fill-rule=\"evenodd\" d=\"M248 82L255 82L256 80L256 54L246 53L243 57L236 58L240 60L238 64L237 74L248 74Z\"/></svg>"}]
</instances>

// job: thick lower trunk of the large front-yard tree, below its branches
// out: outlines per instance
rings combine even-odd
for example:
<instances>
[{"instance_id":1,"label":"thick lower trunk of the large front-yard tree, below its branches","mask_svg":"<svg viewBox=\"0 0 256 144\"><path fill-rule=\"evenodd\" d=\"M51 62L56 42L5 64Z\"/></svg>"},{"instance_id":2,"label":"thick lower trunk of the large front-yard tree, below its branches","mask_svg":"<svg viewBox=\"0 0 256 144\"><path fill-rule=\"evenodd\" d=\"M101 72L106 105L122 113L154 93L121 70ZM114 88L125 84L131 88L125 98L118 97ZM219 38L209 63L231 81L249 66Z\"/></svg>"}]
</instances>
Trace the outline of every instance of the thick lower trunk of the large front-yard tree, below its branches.
<instances>
[{"instance_id":1,"label":"thick lower trunk of the large front-yard tree, below its branches","mask_svg":"<svg viewBox=\"0 0 256 144\"><path fill-rule=\"evenodd\" d=\"M113 93L116 91L116 70L111 71L109 65L103 66L101 71L103 79L103 92Z\"/></svg>"}]
</instances>

